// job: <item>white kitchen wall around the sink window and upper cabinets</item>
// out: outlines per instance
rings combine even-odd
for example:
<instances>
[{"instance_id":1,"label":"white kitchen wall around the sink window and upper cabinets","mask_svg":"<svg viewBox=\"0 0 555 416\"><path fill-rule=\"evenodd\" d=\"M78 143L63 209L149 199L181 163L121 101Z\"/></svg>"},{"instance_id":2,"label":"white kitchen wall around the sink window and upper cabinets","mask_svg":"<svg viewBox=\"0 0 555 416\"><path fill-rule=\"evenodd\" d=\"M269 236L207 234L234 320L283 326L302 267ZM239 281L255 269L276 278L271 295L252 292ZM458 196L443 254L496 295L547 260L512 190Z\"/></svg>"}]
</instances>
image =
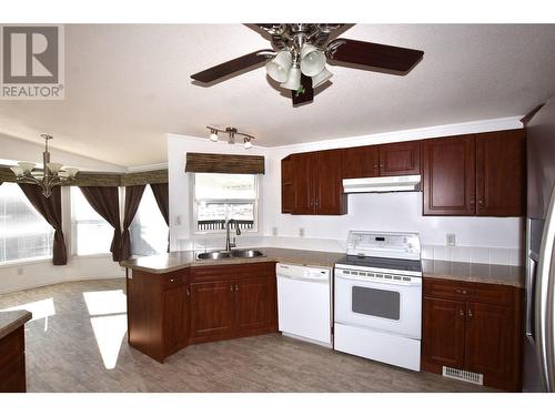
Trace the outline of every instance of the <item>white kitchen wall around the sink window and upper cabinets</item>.
<instances>
[{"instance_id":1,"label":"white kitchen wall around the sink window and upper cabinets","mask_svg":"<svg viewBox=\"0 0 555 416\"><path fill-rule=\"evenodd\" d=\"M239 237L241 245L271 245L322 251L344 251L349 230L416 231L421 233L426 258L519 264L523 240L521 219L422 216L422 193L352 194L349 213L337 216L281 214L281 159L291 153L393 141L416 140L484 131L522 128L517 118L433 126L360 138L306 143L281 148L256 149L266 156L266 174L262 181L262 235ZM189 180L184 173L185 153L239 152L241 146L209 142L206 139L168 138L170 169L170 232L172 250L190 248ZM176 215L181 225L175 225ZM278 234L273 235L276 229ZM304 237L300 237L303 229ZM456 248L446 247L445 234L456 235ZM220 237L221 239L221 237ZM189 243L189 244L188 244Z\"/></svg>"}]
</instances>

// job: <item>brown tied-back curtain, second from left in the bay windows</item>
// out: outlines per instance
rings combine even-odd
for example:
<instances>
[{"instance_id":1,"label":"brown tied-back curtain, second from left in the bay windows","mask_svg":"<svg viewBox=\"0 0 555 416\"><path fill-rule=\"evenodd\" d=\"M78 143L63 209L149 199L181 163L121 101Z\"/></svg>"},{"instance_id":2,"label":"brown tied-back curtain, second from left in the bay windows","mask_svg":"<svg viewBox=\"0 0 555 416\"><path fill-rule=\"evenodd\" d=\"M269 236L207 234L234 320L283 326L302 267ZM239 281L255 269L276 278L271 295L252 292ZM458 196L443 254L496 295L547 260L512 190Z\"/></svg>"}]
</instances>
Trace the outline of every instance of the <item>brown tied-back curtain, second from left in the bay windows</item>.
<instances>
[{"instance_id":1,"label":"brown tied-back curtain, second from left in the bay windows","mask_svg":"<svg viewBox=\"0 0 555 416\"><path fill-rule=\"evenodd\" d=\"M113 226L113 239L110 246L112 260L121 260L120 200L118 186L80 186L84 197L94 211Z\"/></svg>"}]
</instances>

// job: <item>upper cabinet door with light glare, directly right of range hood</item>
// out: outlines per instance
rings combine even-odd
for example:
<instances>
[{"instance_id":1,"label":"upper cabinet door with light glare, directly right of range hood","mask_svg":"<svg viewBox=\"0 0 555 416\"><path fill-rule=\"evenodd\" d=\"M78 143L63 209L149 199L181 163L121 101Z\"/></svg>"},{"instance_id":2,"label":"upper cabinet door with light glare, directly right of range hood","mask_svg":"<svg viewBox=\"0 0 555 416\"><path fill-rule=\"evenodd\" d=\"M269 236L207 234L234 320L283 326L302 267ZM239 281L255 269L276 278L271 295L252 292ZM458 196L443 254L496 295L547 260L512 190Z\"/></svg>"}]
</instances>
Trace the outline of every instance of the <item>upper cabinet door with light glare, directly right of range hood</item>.
<instances>
[{"instance_id":1,"label":"upper cabinet door with light glare, directly right of range hood","mask_svg":"<svg viewBox=\"0 0 555 416\"><path fill-rule=\"evenodd\" d=\"M422 142L424 215L476 213L475 156L474 134Z\"/></svg>"}]
</instances>

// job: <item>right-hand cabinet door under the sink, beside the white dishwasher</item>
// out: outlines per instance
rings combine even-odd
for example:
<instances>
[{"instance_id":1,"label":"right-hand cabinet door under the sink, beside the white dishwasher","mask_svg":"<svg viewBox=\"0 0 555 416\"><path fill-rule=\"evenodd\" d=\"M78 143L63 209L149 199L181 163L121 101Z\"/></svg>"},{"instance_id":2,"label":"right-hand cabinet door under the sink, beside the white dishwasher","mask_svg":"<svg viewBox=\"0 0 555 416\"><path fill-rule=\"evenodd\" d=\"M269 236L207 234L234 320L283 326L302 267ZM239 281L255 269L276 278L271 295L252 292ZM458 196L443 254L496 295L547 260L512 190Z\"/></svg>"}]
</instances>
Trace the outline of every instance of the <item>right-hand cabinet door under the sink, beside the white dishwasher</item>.
<instances>
[{"instance_id":1,"label":"right-hand cabinet door under the sink, beside the white dishwasher","mask_svg":"<svg viewBox=\"0 0 555 416\"><path fill-rule=\"evenodd\" d=\"M238 332L272 329L278 326L275 277L241 278L236 283Z\"/></svg>"}]
</instances>

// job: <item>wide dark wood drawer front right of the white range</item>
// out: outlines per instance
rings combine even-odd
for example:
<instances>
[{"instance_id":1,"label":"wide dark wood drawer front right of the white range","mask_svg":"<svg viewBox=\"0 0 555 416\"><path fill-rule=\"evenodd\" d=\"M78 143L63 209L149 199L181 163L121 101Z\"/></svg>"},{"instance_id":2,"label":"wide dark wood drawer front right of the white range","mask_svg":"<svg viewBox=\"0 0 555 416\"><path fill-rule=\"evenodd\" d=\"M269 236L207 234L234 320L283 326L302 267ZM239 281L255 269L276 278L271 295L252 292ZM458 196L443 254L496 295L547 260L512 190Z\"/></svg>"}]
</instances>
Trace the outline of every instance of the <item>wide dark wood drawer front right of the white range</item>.
<instances>
[{"instance_id":1,"label":"wide dark wood drawer front right of the white range","mask_svg":"<svg viewBox=\"0 0 555 416\"><path fill-rule=\"evenodd\" d=\"M424 296L428 297L509 306L514 303L515 287L490 283L424 278L423 293Z\"/></svg>"}]
</instances>

